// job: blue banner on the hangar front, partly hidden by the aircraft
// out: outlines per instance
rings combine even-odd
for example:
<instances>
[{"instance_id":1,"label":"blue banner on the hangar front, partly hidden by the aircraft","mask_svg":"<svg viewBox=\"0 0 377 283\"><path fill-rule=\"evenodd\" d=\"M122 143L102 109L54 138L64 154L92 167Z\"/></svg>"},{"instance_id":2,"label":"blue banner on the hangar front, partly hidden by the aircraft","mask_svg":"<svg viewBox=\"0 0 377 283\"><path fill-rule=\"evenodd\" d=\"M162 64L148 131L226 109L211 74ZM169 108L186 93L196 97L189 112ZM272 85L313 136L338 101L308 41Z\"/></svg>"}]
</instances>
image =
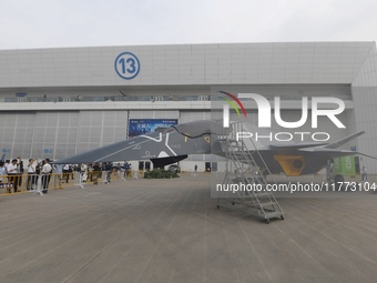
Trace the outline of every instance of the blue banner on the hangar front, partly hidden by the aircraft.
<instances>
[{"instance_id":1,"label":"blue banner on the hangar front, partly hidden by the aircraft","mask_svg":"<svg viewBox=\"0 0 377 283\"><path fill-rule=\"evenodd\" d=\"M160 127L170 127L177 123L177 119L130 119L129 138L154 132Z\"/></svg>"}]
</instances>

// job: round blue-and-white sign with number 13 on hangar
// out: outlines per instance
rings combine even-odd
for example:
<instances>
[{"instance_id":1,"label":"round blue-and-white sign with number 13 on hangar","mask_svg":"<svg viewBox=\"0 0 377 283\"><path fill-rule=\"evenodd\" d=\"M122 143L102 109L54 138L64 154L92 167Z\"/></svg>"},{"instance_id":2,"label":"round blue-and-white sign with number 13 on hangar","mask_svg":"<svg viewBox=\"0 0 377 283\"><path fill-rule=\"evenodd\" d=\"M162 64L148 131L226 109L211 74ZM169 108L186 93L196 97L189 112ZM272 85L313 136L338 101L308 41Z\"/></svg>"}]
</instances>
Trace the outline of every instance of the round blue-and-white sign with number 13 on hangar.
<instances>
[{"instance_id":1,"label":"round blue-and-white sign with number 13 on hangar","mask_svg":"<svg viewBox=\"0 0 377 283\"><path fill-rule=\"evenodd\" d=\"M135 54L123 52L116 57L114 67L119 77L132 80L139 74L140 61Z\"/></svg>"}]
</instances>

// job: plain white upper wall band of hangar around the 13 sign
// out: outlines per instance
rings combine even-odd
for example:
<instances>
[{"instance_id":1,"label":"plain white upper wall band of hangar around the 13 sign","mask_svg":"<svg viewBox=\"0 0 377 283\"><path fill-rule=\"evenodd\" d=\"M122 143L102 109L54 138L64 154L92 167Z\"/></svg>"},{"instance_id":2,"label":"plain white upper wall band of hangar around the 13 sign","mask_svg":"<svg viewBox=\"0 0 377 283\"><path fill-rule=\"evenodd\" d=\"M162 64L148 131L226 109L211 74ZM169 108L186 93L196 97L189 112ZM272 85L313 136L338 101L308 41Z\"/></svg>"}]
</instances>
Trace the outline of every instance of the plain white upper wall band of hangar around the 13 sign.
<instances>
[{"instance_id":1,"label":"plain white upper wall band of hangar around the 13 sign","mask_svg":"<svg viewBox=\"0 0 377 283\"><path fill-rule=\"evenodd\" d=\"M6 50L0 51L0 73L6 74L0 77L0 88L243 82L238 74L245 69L258 73L248 78L248 83L271 83L271 73L276 68L297 63L299 73L310 73L310 77L286 74L278 78L284 78L285 83L318 83L323 78L329 83L350 83L373 44L297 42ZM114 70L115 58L124 51L134 53L141 62L140 73L132 80L120 78ZM308 71L318 63L324 75ZM349 75L332 75L332 69L339 70L344 64L348 65ZM175 75L166 75L167 65L175 67ZM191 73L184 72L185 67ZM228 78L218 75L224 69L230 71ZM200 70L211 79L204 81L195 77ZM295 73L295 67L288 72Z\"/></svg>"}]
</instances>

